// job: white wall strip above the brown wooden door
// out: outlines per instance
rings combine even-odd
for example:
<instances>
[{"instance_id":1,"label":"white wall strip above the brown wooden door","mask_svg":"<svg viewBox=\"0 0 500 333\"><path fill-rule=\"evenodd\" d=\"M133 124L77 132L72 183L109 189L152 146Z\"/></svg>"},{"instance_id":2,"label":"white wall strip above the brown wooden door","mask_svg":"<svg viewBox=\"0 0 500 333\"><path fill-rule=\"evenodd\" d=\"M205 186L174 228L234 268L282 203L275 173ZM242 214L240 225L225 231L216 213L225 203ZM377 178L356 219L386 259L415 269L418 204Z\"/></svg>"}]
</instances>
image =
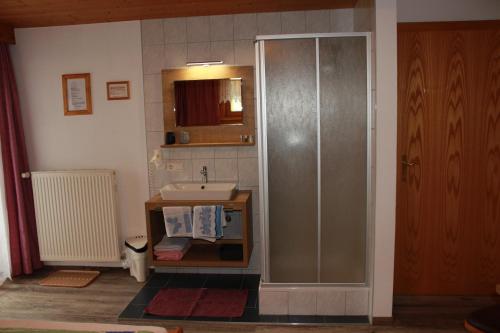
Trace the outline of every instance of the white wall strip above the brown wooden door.
<instances>
[{"instance_id":1,"label":"white wall strip above the brown wooden door","mask_svg":"<svg viewBox=\"0 0 500 333\"><path fill-rule=\"evenodd\" d=\"M398 22L500 19L499 0L397 0Z\"/></svg>"}]
</instances>

